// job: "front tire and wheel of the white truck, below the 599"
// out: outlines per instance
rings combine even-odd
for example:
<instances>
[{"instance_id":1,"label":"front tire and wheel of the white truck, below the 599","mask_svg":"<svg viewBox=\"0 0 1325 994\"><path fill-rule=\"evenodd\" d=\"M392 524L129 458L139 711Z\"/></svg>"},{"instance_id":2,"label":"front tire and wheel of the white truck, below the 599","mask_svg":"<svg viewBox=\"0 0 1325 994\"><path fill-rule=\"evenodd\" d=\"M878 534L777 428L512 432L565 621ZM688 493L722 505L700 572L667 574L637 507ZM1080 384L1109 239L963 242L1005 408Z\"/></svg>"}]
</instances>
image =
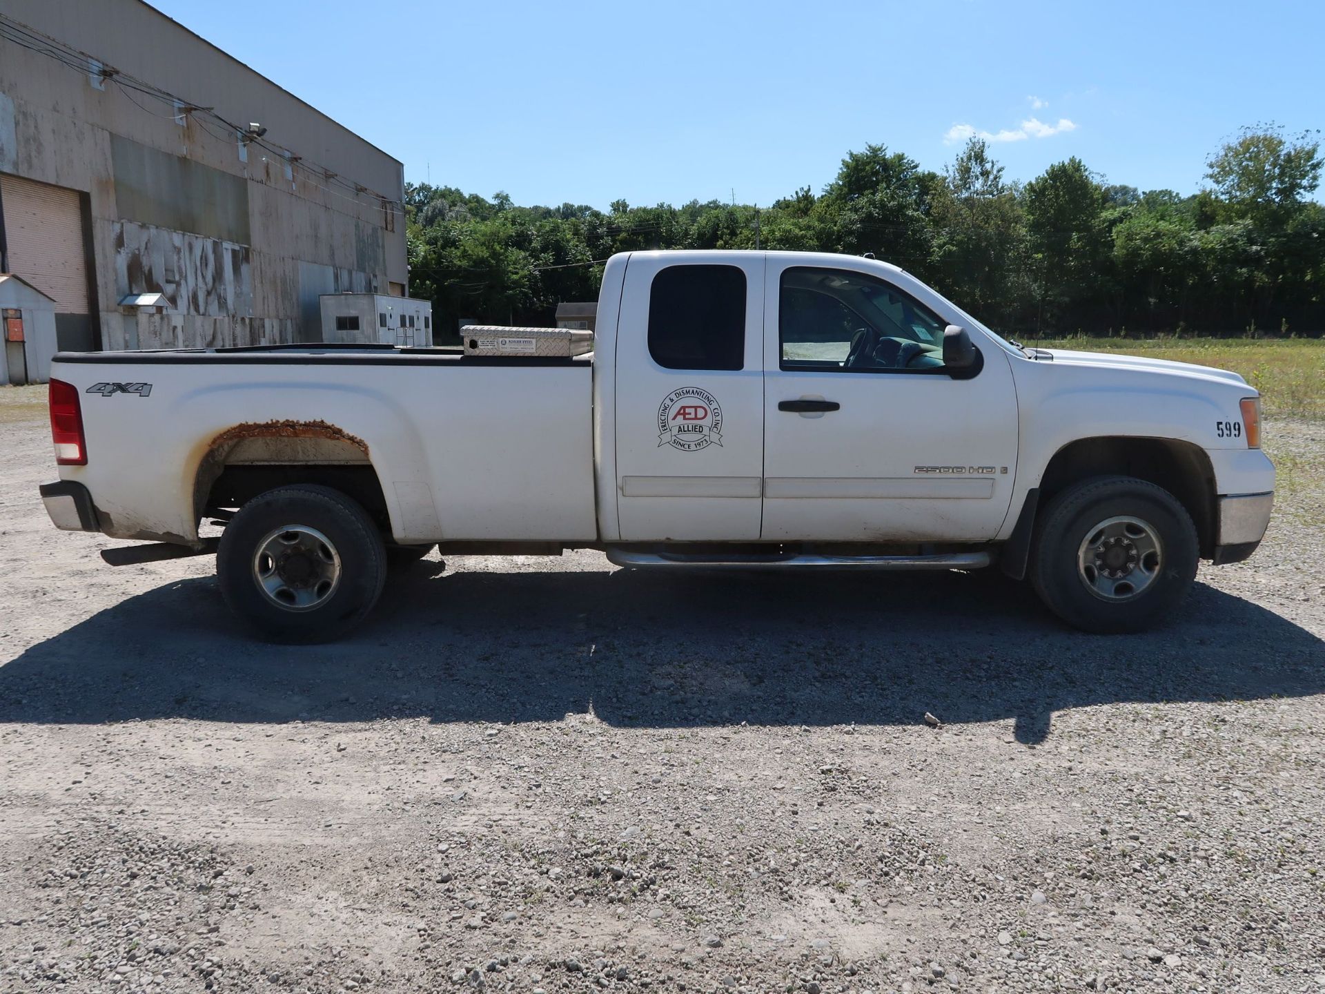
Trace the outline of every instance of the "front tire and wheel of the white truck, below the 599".
<instances>
[{"instance_id":1,"label":"front tire and wheel of the white truck, below the 599","mask_svg":"<svg viewBox=\"0 0 1325 994\"><path fill-rule=\"evenodd\" d=\"M1198 557L1196 527L1171 493L1128 476L1096 477L1045 508L1031 547L1031 583L1076 628L1138 632L1182 603Z\"/></svg>"}]
</instances>

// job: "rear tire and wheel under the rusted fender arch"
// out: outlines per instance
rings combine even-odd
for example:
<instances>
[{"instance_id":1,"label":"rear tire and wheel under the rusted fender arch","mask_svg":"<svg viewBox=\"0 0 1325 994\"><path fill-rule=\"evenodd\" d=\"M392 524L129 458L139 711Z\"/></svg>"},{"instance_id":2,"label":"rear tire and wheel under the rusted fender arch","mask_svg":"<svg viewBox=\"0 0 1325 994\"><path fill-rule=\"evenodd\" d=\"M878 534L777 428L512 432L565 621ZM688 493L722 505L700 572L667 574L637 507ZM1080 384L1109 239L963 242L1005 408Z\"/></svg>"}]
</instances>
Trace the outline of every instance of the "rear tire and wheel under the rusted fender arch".
<instances>
[{"instance_id":1,"label":"rear tire and wheel under the rusted fender arch","mask_svg":"<svg viewBox=\"0 0 1325 994\"><path fill-rule=\"evenodd\" d=\"M382 595L382 535L355 501L330 486L258 494L225 526L216 551L225 603L276 641L338 639Z\"/></svg>"}]
</instances>

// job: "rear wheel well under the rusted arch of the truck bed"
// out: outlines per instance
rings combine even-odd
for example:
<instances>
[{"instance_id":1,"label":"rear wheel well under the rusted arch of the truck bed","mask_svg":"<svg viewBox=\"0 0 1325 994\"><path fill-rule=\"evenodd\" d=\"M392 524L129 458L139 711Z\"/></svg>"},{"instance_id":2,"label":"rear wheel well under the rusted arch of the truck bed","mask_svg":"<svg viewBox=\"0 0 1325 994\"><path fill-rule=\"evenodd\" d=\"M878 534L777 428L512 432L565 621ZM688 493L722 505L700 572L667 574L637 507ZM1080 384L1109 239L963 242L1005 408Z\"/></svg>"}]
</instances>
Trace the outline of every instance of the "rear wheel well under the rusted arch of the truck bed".
<instances>
[{"instance_id":1,"label":"rear wheel well under the rusted arch of the truck bed","mask_svg":"<svg viewBox=\"0 0 1325 994\"><path fill-rule=\"evenodd\" d=\"M290 484L322 484L354 498L387 534L391 518L368 447L325 421L241 424L213 439L197 468L193 509L236 510L260 493Z\"/></svg>"}]
</instances>

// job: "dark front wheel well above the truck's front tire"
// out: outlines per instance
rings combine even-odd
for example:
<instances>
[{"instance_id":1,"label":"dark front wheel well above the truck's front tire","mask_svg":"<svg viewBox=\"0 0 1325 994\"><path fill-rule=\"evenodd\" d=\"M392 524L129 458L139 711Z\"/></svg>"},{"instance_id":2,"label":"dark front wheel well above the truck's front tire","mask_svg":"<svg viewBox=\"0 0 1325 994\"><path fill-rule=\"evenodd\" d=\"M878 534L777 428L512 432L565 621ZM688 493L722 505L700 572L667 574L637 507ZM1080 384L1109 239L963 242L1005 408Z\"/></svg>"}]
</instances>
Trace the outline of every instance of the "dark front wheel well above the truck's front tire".
<instances>
[{"instance_id":1,"label":"dark front wheel well above the truck's front tire","mask_svg":"<svg viewBox=\"0 0 1325 994\"><path fill-rule=\"evenodd\" d=\"M1092 476L1134 476L1162 486L1191 516L1200 555L1214 555L1218 541L1215 470L1199 445L1174 439L1079 439L1053 453L1040 477L1040 506L1072 484Z\"/></svg>"}]
</instances>

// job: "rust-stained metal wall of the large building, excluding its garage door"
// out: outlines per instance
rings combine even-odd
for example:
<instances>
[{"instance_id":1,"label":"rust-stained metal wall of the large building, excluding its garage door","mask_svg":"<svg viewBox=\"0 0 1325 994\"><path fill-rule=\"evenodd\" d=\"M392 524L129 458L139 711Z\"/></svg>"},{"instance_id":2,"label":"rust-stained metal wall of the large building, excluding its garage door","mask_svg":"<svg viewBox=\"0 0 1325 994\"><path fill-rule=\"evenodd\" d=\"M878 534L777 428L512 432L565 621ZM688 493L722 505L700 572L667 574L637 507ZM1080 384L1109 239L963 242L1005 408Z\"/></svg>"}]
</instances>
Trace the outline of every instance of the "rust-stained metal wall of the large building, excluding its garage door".
<instances>
[{"instance_id":1,"label":"rust-stained metal wall of the large building, excluding its garage door","mask_svg":"<svg viewBox=\"0 0 1325 994\"><path fill-rule=\"evenodd\" d=\"M403 197L398 160L139 0L0 0L0 9L233 121L261 121L269 140ZM404 282L404 220L387 217L378 197L346 196L265 150L241 150L215 123L139 103L150 98L99 89L87 73L0 41L0 172L87 193L103 347L303 341L319 334L326 273L333 290ZM139 334L117 304L146 292L166 293L180 313Z\"/></svg>"}]
</instances>

